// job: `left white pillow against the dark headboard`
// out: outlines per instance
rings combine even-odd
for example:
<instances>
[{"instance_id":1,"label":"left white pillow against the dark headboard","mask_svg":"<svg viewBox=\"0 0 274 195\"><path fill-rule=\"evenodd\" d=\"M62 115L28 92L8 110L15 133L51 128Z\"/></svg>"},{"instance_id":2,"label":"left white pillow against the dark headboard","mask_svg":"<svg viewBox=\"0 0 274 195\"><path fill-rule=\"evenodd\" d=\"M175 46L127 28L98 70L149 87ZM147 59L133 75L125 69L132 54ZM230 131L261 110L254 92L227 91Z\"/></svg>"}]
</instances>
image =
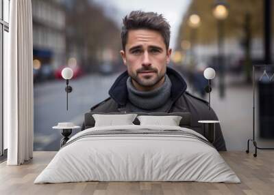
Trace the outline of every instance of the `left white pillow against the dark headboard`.
<instances>
[{"instance_id":1,"label":"left white pillow against the dark headboard","mask_svg":"<svg viewBox=\"0 0 274 195\"><path fill-rule=\"evenodd\" d=\"M93 114L92 117L95 119L95 127L101 126L113 126L113 125L134 125L132 123L136 118L136 114L125 114L125 115L100 115Z\"/></svg>"}]
</instances>

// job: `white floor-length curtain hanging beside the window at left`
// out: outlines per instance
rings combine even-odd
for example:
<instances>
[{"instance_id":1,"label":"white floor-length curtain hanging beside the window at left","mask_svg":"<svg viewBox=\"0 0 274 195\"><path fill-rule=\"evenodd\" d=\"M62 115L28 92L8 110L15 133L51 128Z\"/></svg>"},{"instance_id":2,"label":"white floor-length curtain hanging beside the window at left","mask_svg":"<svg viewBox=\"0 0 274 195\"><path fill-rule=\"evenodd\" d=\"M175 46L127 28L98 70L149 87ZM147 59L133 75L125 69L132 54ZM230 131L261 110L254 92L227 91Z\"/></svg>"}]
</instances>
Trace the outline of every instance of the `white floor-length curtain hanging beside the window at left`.
<instances>
[{"instance_id":1,"label":"white floor-length curtain hanging beside the window at left","mask_svg":"<svg viewBox=\"0 0 274 195\"><path fill-rule=\"evenodd\" d=\"M32 158L33 65L32 2L10 1L10 64L4 67L4 127L8 128L8 165Z\"/></svg>"}]
</instances>

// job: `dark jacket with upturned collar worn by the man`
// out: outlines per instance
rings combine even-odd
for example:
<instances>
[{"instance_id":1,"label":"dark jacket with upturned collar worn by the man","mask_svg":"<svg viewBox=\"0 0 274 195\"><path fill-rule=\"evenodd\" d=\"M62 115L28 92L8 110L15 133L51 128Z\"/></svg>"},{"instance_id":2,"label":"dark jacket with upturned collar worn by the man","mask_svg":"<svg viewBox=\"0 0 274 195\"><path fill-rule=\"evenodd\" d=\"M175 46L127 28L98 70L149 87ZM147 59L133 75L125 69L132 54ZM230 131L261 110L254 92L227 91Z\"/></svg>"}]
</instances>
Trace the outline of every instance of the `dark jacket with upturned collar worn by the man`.
<instances>
[{"instance_id":1,"label":"dark jacket with upturned collar worn by the man","mask_svg":"<svg viewBox=\"0 0 274 195\"><path fill-rule=\"evenodd\" d=\"M199 120L218 120L214 110L208 109L208 102L202 100L199 97L195 97L186 91L186 82L184 78L171 67L166 68L166 74L169 76L171 87L171 107L169 112L190 112L191 113L191 125L190 129L196 132L202 133L202 125L198 123ZM131 112L125 106L127 104L127 71L123 72L118 78L116 78L114 84L110 88L108 97L103 102L92 106L91 112ZM85 130L85 123L82 125L82 130ZM225 140L221 132L221 126L216 124L214 147L218 151L226 151Z\"/></svg>"}]
</instances>

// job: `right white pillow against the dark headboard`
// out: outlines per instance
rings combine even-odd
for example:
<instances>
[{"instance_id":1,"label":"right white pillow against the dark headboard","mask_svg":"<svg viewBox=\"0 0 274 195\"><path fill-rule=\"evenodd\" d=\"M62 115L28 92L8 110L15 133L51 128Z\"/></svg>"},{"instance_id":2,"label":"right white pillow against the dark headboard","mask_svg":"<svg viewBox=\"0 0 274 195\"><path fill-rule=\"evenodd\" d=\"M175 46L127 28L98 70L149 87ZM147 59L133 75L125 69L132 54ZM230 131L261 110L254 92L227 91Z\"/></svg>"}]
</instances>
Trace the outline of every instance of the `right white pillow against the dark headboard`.
<instances>
[{"instance_id":1,"label":"right white pillow against the dark headboard","mask_svg":"<svg viewBox=\"0 0 274 195\"><path fill-rule=\"evenodd\" d=\"M182 117L141 115L141 116L138 116L137 119L140 121L140 125L179 126L179 122L181 121Z\"/></svg>"}]
</instances>

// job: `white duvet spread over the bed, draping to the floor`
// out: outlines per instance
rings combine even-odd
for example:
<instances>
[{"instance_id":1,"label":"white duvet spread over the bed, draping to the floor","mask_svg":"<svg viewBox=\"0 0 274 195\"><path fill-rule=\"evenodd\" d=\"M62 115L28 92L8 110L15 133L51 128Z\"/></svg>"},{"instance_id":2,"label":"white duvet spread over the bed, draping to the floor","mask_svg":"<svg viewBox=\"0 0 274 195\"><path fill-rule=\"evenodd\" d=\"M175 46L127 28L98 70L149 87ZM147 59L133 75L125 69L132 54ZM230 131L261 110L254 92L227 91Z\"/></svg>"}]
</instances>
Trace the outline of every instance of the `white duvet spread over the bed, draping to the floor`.
<instances>
[{"instance_id":1,"label":"white duvet spread over the bed, draping to the floor","mask_svg":"<svg viewBox=\"0 0 274 195\"><path fill-rule=\"evenodd\" d=\"M34 183L77 181L240 183L240 179L219 152L199 139L173 134L83 136L100 130L140 132L142 130L182 130L203 138L193 130L176 126L92 127L75 134L67 145L56 153Z\"/></svg>"}]
</instances>

